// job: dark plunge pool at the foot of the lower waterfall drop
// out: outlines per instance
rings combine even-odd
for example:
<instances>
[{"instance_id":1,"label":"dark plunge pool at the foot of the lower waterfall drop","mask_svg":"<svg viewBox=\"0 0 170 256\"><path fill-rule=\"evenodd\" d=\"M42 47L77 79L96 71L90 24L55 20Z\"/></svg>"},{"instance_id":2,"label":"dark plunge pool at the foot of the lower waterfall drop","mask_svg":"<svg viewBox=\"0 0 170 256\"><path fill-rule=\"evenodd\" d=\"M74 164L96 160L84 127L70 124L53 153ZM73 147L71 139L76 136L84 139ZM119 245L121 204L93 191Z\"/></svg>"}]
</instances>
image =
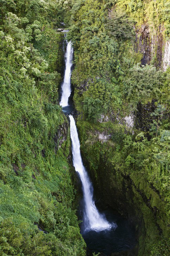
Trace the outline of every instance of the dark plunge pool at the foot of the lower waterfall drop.
<instances>
[{"instance_id":1,"label":"dark plunge pool at the foot of the lower waterfall drop","mask_svg":"<svg viewBox=\"0 0 170 256\"><path fill-rule=\"evenodd\" d=\"M135 230L129 224L128 220L112 209L102 211L109 223L116 223L110 230L95 232L93 230L83 232L83 223L81 234L87 245L87 255L92 256L93 252L100 253L102 256L111 256L115 252L118 255L124 255L123 252L130 251L137 243ZM134 254L131 254L134 255Z\"/></svg>"}]
</instances>

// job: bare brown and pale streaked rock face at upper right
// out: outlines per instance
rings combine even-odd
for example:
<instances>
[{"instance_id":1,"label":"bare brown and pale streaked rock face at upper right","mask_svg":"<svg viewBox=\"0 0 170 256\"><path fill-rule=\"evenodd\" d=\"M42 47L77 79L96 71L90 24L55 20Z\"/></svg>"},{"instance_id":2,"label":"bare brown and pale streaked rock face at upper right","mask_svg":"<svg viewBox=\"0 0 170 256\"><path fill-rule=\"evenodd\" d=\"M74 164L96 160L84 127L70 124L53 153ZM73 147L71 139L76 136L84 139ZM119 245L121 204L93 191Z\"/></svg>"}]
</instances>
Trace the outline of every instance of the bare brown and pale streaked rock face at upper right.
<instances>
[{"instance_id":1,"label":"bare brown and pale streaked rock face at upper right","mask_svg":"<svg viewBox=\"0 0 170 256\"><path fill-rule=\"evenodd\" d=\"M151 30L149 25L143 24L134 29L136 32L134 50L143 54L141 64L154 64L165 71L170 65L170 42L163 36L164 27L159 25L155 31Z\"/></svg>"}]
</instances>

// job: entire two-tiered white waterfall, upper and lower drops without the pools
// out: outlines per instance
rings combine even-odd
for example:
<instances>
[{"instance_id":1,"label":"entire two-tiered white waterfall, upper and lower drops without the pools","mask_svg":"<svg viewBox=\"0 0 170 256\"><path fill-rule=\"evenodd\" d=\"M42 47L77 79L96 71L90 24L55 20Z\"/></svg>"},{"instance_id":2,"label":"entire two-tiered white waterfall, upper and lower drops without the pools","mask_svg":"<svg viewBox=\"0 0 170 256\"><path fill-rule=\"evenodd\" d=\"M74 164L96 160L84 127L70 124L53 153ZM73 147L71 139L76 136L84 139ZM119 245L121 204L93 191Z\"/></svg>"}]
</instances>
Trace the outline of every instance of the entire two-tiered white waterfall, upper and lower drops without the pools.
<instances>
[{"instance_id":1,"label":"entire two-tiered white waterfall, upper and lower drops without the pools","mask_svg":"<svg viewBox=\"0 0 170 256\"><path fill-rule=\"evenodd\" d=\"M67 50L65 54L65 74L62 83L62 97L60 105L63 107L68 106L68 99L71 93L71 66L73 59L73 47L71 42L67 42ZM64 111L66 112L66 111ZM84 197L84 216L83 224L85 230L92 229L94 231L102 231L104 229L111 229L112 225L106 220L106 217L99 213L93 200L93 186L88 177L87 171L83 166L80 142L78 139L77 128L73 116L70 118L70 135L72 142L73 164L75 170L79 173L82 181L83 197Z\"/></svg>"}]
</instances>

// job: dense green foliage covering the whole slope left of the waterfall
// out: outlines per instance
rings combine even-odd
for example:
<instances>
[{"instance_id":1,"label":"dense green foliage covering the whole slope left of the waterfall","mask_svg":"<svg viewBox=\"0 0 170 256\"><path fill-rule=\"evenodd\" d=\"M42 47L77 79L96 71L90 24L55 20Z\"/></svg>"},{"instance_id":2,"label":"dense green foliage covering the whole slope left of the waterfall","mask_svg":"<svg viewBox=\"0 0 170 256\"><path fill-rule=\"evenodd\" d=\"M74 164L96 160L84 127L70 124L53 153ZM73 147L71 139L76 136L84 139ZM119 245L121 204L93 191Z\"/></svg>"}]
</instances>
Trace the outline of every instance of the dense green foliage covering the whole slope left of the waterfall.
<instances>
[{"instance_id":1,"label":"dense green foliage covering the whole slope left of the waterfall","mask_svg":"<svg viewBox=\"0 0 170 256\"><path fill-rule=\"evenodd\" d=\"M57 105L63 15L55 1L0 1L0 255L84 255L67 119Z\"/></svg>"}]
</instances>

